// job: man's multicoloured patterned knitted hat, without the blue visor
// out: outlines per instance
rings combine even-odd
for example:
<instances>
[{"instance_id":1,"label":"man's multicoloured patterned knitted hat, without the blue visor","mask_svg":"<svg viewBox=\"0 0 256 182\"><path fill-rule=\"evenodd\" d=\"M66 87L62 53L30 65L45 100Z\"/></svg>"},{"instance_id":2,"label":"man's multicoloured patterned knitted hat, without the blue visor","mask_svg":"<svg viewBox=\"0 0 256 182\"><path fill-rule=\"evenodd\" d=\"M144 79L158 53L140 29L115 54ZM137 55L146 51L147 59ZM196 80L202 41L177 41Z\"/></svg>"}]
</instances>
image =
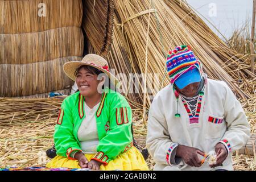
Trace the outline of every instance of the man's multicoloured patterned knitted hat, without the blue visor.
<instances>
[{"instance_id":1,"label":"man's multicoloured patterned knitted hat, without the blue visor","mask_svg":"<svg viewBox=\"0 0 256 182\"><path fill-rule=\"evenodd\" d=\"M174 84L177 78L195 67L200 74L203 73L200 61L196 59L189 46L179 46L169 51L166 66L171 84Z\"/></svg>"}]
</instances>

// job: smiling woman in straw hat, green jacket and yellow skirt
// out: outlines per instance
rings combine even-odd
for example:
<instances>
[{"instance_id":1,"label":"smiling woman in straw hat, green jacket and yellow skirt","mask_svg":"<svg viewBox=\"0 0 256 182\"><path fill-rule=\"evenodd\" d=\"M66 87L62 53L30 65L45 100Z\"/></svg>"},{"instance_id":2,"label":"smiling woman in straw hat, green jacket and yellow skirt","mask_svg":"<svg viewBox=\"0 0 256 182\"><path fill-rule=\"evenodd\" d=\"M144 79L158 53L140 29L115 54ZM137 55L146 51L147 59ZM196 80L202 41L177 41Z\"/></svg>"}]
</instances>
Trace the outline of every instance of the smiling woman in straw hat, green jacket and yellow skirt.
<instances>
[{"instance_id":1,"label":"smiling woman in straw hat, green jacket and yellow skirt","mask_svg":"<svg viewBox=\"0 0 256 182\"><path fill-rule=\"evenodd\" d=\"M131 107L115 92L119 81L109 72L108 62L89 54L63 68L79 91L61 105L54 134L57 156L47 167L148 170L133 146Z\"/></svg>"}]
</instances>

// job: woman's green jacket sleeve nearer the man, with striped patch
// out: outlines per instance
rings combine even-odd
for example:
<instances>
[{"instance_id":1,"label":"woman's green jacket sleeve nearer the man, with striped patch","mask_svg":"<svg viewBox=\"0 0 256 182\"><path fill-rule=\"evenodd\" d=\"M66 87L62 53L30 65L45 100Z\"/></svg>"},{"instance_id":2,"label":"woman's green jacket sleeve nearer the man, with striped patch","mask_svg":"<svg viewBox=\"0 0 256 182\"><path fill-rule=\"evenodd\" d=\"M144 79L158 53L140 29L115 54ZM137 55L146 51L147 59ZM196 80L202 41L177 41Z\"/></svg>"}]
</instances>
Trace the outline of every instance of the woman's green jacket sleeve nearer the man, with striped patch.
<instances>
[{"instance_id":1,"label":"woman's green jacket sleeve nearer the man, with striped patch","mask_svg":"<svg viewBox=\"0 0 256 182\"><path fill-rule=\"evenodd\" d=\"M129 150L133 143L131 107L126 99L119 94L115 94L115 97L111 98L109 112L110 129L106 136L100 140L97 154L92 158L105 165Z\"/></svg>"}]
</instances>

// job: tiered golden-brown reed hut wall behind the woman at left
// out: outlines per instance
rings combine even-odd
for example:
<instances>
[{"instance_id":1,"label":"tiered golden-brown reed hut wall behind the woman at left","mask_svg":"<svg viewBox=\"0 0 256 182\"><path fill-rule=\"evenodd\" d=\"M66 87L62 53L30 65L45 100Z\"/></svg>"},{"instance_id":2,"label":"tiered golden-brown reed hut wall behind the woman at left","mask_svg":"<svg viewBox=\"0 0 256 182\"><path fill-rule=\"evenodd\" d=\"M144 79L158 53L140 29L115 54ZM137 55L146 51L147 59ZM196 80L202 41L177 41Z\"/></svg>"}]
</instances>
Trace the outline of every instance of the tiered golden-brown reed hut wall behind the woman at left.
<instances>
[{"instance_id":1,"label":"tiered golden-brown reed hut wall behind the woman at left","mask_svg":"<svg viewBox=\"0 0 256 182\"><path fill-rule=\"evenodd\" d=\"M0 0L0 97L70 88L63 64L81 60L81 23L81 0Z\"/></svg>"}]
</instances>

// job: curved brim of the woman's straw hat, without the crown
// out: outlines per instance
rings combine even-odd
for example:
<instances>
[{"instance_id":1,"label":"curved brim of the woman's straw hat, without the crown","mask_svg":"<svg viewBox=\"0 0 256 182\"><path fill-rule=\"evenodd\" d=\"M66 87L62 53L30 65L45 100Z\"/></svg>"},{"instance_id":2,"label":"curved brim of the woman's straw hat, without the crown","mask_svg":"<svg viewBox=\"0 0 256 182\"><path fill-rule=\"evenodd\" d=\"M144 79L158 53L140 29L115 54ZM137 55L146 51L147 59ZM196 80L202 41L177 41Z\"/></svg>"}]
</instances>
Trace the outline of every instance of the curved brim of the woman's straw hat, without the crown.
<instances>
[{"instance_id":1,"label":"curved brim of the woman's straw hat, without the crown","mask_svg":"<svg viewBox=\"0 0 256 182\"><path fill-rule=\"evenodd\" d=\"M120 86L119 80L112 73L106 71L105 69L103 69L101 67L97 67L97 65L94 65L94 64L84 63L81 61L70 61L63 65L63 70L69 78L71 78L73 81L76 81L75 72L76 72L77 68L81 67L81 65L88 65L90 67L99 69L100 71L104 72L110 78L110 81L114 84L114 86L116 86L116 87Z\"/></svg>"}]
</instances>

